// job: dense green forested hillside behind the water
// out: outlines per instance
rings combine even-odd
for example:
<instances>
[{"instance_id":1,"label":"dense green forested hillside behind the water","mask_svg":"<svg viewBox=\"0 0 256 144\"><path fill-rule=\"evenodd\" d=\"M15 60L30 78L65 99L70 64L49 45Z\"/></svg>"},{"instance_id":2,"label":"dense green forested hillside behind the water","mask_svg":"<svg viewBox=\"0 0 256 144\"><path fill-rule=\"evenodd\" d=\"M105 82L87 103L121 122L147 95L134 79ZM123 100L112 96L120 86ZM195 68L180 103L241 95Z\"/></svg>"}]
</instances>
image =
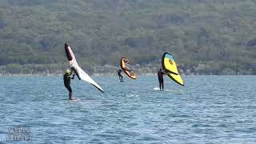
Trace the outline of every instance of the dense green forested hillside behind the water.
<instances>
[{"instance_id":1,"label":"dense green forested hillside behind the water","mask_svg":"<svg viewBox=\"0 0 256 144\"><path fill-rule=\"evenodd\" d=\"M122 57L154 73L166 51L184 74L256 74L255 14L255 0L1 0L0 73L62 73L67 42L90 74Z\"/></svg>"}]
</instances>

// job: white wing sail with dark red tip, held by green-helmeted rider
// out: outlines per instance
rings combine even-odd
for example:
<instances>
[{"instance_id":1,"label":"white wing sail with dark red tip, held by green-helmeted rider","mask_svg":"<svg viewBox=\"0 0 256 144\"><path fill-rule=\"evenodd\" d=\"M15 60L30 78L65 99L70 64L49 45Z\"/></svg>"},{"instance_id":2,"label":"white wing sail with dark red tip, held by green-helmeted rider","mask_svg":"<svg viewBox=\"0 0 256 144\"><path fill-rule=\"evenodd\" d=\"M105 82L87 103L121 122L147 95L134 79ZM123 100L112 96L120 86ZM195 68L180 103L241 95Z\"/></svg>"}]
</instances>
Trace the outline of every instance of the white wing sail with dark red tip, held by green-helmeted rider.
<instances>
[{"instance_id":1,"label":"white wing sail with dark red tip, held by green-helmeted rider","mask_svg":"<svg viewBox=\"0 0 256 144\"><path fill-rule=\"evenodd\" d=\"M71 69L72 67L74 67L74 69L77 70L78 77L81 78L83 81L89 82L90 84L95 86L98 90L101 90L102 93L104 93L104 91L102 90L102 87L98 86L98 84L92 78L90 78L90 76L86 74L86 72L82 70L80 66L78 66L78 62L74 57L74 53L67 43L65 43L65 51L66 51L66 58L70 62L70 67Z\"/></svg>"}]
</instances>

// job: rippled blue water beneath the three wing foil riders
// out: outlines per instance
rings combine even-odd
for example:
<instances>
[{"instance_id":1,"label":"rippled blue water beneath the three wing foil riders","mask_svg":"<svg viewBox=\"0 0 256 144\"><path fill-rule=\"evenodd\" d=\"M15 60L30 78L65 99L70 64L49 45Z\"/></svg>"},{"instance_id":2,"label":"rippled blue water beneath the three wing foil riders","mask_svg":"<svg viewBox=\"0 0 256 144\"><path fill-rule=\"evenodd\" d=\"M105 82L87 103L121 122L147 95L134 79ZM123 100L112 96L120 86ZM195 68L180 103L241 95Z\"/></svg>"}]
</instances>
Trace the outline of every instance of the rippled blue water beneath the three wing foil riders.
<instances>
[{"instance_id":1,"label":"rippled blue water beneath the three wing foil riders","mask_svg":"<svg viewBox=\"0 0 256 144\"><path fill-rule=\"evenodd\" d=\"M34 143L255 143L256 76L94 78L105 94L62 77L0 78L0 143L30 126ZM14 142L17 143L17 142ZM20 143L20 142L18 142Z\"/></svg>"}]
</instances>

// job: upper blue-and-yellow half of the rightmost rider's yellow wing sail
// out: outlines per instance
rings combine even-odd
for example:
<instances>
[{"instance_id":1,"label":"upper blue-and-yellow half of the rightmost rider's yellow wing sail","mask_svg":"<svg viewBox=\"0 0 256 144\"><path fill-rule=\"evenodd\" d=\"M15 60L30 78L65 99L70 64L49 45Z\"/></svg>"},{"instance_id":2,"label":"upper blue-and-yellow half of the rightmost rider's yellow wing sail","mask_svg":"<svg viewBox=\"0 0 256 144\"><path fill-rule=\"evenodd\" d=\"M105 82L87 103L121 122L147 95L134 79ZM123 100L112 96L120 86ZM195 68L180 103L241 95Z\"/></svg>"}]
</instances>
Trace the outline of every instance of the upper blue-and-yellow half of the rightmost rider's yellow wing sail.
<instances>
[{"instance_id":1,"label":"upper blue-and-yellow half of the rightmost rider's yellow wing sail","mask_svg":"<svg viewBox=\"0 0 256 144\"><path fill-rule=\"evenodd\" d=\"M165 53L162 56L162 68L169 73L178 74L176 62L171 54Z\"/></svg>"}]
</instances>

